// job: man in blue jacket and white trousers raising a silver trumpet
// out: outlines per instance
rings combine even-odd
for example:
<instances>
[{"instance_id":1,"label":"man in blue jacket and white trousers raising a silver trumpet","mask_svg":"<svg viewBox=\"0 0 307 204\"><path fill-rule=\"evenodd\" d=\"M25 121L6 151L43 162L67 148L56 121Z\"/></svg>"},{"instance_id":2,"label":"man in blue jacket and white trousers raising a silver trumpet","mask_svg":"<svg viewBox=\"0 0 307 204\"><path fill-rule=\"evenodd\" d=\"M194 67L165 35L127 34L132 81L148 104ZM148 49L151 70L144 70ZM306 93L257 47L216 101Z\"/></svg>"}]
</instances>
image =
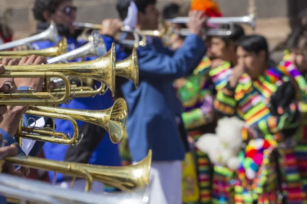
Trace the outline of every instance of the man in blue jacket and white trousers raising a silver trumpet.
<instances>
[{"instance_id":1,"label":"man in blue jacket and white trousers raising a silver trumpet","mask_svg":"<svg viewBox=\"0 0 307 204\"><path fill-rule=\"evenodd\" d=\"M155 0L118 0L117 10L130 28L158 29ZM188 142L182 107L172 82L188 75L205 54L200 36L206 18L199 11L190 12L189 17L190 35L182 48L171 52L160 39L147 38L147 45L138 49L138 89L130 82L122 85L128 105L127 132L133 161L142 160L152 149L150 203L182 203L181 166Z\"/></svg>"}]
</instances>

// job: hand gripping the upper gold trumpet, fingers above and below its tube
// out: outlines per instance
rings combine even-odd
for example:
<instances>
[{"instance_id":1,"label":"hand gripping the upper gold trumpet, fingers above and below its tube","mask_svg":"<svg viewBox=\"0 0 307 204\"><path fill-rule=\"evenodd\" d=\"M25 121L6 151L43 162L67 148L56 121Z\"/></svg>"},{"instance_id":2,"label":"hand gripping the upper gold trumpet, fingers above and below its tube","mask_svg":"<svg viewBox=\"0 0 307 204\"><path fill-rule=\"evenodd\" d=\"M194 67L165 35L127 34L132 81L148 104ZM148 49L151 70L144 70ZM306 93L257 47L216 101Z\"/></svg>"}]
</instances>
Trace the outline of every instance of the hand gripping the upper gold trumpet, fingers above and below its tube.
<instances>
[{"instance_id":1,"label":"hand gripping the upper gold trumpet, fingers above and below its tube","mask_svg":"<svg viewBox=\"0 0 307 204\"><path fill-rule=\"evenodd\" d=\"M23 57L18 65L41 65L46 63L47 59L32 55L31 57ZM44 78L15 78L16 87L27 86L35 91L41 91Z\"/></svg>"}]
</instances>

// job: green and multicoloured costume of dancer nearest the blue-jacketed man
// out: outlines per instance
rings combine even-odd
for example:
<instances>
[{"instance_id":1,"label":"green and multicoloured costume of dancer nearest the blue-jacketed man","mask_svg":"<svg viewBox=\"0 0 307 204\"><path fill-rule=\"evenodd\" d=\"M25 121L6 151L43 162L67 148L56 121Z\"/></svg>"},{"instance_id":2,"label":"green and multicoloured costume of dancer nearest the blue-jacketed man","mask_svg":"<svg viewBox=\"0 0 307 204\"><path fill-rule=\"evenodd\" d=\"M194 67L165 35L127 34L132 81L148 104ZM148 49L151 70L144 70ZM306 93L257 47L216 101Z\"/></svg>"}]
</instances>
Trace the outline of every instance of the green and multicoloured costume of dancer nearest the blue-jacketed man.
<instances>
[{"instance_id":1,"label":"green and multicoloured costume of dancer nearest the blue-jacketed man","mask_svg":"<svg viewBox=\"0 0 307 204\"><path fill-rule=\"evenodd\" d=\"M186 199L186 203L211 203L212 199L220 200L221 197L228 197L221 189L221 185L227 184L224 172L215 172L216 183L212 182L212 168L207 155L194 147L194 141L205 133L214 132L213 122L213 92L223 88L232 74L230 63L224 62L223 65L210 69L211 62L204 57L200 65L194 70L193 74L185 78L181 85L177 84L178 96L182 101L184 113L182 114L183 122L188 134L192 139L190 145L195 158L195 164L198 171L198 183L200 191L200 200L193 201ZM220 168L221 169L221 168ZM191 176L192 177L192 176ZM184 184L184 186L186 186ZM213 192L211 192L213 190ZM183 189L186 193L185 189Z\"/></svg>"}]
</instances>

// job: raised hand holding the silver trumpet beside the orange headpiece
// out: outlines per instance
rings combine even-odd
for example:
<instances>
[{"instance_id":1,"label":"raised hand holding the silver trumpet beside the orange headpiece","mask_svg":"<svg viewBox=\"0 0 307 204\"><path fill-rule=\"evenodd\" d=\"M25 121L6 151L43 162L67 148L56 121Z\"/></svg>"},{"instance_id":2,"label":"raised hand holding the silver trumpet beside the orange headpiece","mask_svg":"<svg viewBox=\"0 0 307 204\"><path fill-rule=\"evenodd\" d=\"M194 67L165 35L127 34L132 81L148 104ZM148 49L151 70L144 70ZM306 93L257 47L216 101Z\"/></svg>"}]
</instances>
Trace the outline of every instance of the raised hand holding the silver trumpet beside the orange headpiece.
<instances>
[{"instance_id":1,"label":"raised hand holding the silver trumpet beside the orange headpiece","mask_svg":"<svg viewBox=\"0 0 307 204\"><path fill-rule=\"evenodd\" d=\"M190 11L189 19L190 20L187 24L189 33L200 36L204 28L207 17L203 15L202 11Z\"/></svg>"}]
</instances>

